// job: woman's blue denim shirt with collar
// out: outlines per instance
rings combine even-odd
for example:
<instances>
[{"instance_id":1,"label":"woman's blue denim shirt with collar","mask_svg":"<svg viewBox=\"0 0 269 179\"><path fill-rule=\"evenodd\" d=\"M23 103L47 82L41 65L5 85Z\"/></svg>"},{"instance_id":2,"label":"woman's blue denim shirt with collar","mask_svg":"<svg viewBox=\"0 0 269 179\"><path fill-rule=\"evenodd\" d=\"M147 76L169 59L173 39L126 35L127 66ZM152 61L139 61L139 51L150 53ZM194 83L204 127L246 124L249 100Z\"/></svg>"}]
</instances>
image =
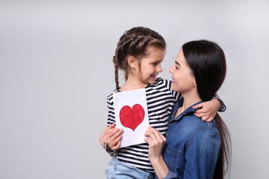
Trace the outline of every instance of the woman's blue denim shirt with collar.
<instances>
[{"instance_id":1,"label":"woman's blue denim shirt with collar","mask_svg":"<svg viewBox=\"0 0 269 179\"><path fill-rule=\"evenodd\" d=\"M175 118L182 105L181 98L169 118L163 148L163 160L169 169L165 178L212 178L221 145L217 123L215 119L210 123L203 122L193 114L195 109L192 107Z\"/></svg>"}]
</instances>

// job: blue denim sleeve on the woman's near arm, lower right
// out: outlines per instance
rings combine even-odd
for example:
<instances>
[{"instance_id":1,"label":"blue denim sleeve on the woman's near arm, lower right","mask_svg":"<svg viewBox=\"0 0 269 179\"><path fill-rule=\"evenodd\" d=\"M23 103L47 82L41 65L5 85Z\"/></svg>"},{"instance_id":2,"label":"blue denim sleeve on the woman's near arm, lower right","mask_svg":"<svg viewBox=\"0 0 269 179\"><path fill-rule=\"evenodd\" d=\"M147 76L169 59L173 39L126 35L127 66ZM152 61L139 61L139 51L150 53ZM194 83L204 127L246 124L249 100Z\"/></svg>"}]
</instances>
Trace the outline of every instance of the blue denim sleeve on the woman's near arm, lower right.
<instances>
[{"instance_id":1,"label":"blue denim sleeve on the woman's near arm, lower right","mask_svg":"<svg viewBox=\"0 0 269 179\"><path fill-rule=\"evenodd\" d=\"M183 178L212 178L219 156L221 138L215 129L195 131L186 144L186 166Z\"/></svg>"}]
</instances>

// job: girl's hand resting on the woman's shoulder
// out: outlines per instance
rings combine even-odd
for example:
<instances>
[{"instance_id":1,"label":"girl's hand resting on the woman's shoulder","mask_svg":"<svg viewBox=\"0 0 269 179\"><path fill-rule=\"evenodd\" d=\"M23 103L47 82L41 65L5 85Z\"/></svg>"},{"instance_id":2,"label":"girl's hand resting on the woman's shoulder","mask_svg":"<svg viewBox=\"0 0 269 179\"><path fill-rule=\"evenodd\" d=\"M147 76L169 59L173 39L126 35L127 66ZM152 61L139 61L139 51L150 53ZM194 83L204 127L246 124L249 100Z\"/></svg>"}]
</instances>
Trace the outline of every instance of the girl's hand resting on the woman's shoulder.
<instances>
[{"instance_id":1,"label":"girl's hand resting on the woman's shoulder","mask_svg":"<svg viewBox=\"0 0 269 179\"><path fill-rule=\"evenodd\" d=\"M221 107L221 103L217 98L213 98L211 101L200 103L192 108L197 109L194 113L195 116L205 122L211 122L215 118L219 107Z\"/></svg>"}]
</instances>

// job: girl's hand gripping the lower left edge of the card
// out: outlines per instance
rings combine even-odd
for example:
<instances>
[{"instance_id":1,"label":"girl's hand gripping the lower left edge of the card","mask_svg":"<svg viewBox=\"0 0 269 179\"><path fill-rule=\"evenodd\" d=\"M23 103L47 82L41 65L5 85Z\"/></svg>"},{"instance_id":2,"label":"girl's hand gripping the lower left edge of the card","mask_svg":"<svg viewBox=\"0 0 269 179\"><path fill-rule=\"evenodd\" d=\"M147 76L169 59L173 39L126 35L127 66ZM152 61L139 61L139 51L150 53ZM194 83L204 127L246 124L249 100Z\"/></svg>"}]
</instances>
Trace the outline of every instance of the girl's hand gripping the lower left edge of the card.
<instances>
[{"instance_id":1,"label":"girl's hand gripping the lower left edge of the card","mask_svg":"<svg viewBox=\"0 0 269 179\"><path fill-rule=\"evenodd\" d=\"M115 128L115 125L112 124L101 132L99 135L99 143L105 149L107 142L110 149L116 151L121 145L122 132L123 129Z\"/></svg>"}]
</instances>

